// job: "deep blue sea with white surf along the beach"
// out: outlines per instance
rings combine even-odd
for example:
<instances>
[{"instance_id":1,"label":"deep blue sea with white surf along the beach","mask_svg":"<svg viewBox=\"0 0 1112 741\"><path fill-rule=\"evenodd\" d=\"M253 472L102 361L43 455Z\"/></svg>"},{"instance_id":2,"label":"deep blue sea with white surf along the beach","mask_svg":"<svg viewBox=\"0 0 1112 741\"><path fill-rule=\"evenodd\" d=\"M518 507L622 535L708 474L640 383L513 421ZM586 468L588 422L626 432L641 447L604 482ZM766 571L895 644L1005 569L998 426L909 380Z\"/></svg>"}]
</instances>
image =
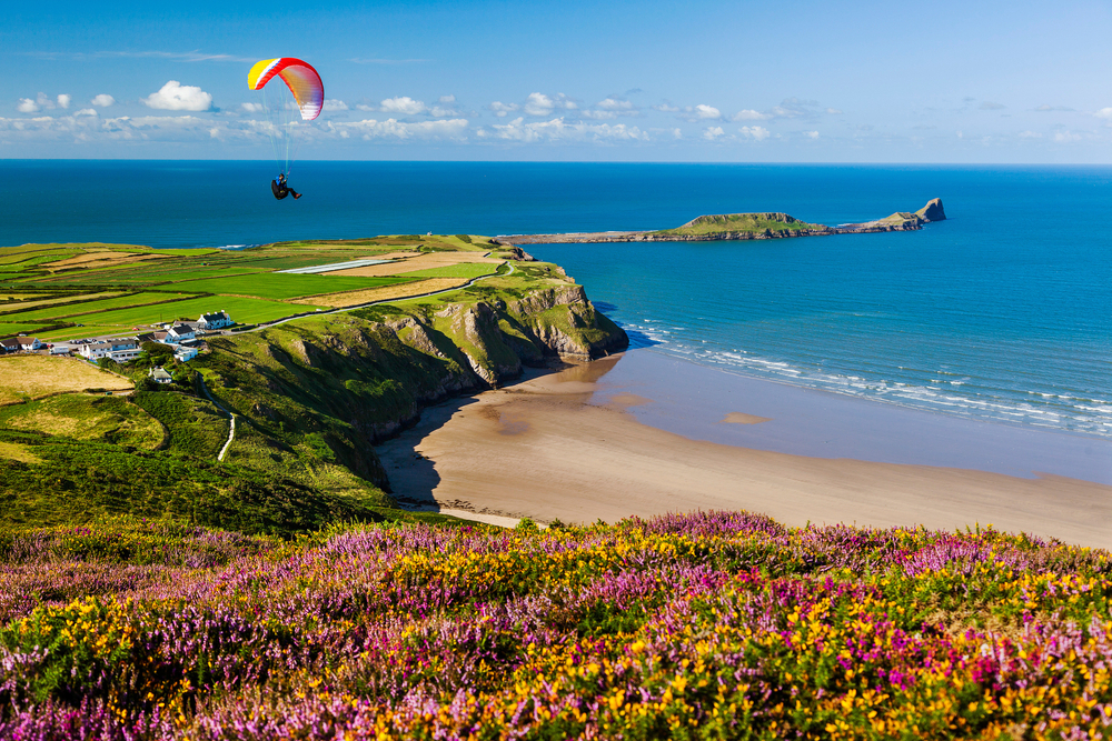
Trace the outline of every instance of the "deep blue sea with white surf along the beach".
<instances>
[{"instance_id":1,"label":"deep blue sea with white surf along the beach","mask_svg":"<svg viewBox=\"0 0 1112 741\"><path fill-rule=\"evenodd\" d=\"M921 231L537 244L635 348L904 409L1112 439L1112 168L0 161L0 244L232 247L662 229L705 213ZM1112 467L1110 467L1112 469Z\"/></svg>"}]
</instances>

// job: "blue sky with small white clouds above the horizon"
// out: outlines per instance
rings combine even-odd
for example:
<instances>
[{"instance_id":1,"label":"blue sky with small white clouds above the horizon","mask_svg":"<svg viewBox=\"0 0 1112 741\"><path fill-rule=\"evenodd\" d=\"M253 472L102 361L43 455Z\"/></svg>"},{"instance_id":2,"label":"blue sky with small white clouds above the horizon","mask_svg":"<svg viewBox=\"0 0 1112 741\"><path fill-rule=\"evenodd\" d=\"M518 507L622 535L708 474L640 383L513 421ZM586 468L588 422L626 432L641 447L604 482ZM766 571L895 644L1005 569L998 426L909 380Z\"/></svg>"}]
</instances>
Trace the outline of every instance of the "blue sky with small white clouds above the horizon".
<instances>
[{"instance_id":1,"label":"blue sky with small white clouds above the horizon","mask_svg":"<svg viewBox=\"0 0 1112 741\"><path fill-rule=\"evenodd\" d=\"M7 10L0 158L1112 162L1112 3L56 2Z\"/></svg>"}]
</instances>

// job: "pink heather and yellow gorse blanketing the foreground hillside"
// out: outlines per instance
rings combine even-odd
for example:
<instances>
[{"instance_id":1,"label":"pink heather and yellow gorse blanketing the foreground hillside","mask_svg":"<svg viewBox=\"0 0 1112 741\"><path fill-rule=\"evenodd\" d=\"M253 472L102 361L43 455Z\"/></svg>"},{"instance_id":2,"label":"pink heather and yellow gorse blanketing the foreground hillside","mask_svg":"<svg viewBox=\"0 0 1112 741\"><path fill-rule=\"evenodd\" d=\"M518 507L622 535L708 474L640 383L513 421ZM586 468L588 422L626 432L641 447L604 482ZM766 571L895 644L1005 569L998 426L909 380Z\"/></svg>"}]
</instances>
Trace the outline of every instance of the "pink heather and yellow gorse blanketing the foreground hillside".
<instances>
[{"instance_id":1,"label":"pink heather and yellow gorse blanketing the foreground hillside","mask_svg":"<svg viewBox=\"0 0 1112 741\"><path fill-rule=\"evenodd\" d=\"M0 539L0 735L1112 737L1112 559L744 512Z\"/></svg>"}]
</instances>

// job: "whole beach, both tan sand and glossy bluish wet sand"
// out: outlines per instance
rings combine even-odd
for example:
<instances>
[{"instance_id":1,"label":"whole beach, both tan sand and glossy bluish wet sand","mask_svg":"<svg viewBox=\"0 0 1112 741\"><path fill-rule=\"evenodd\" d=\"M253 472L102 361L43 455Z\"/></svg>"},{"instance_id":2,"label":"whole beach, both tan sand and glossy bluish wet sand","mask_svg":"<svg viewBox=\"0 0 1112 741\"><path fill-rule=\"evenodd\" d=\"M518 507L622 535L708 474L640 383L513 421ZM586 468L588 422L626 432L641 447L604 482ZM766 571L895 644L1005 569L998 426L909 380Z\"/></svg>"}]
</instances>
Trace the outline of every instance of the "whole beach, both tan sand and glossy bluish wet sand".
<instances>
[{"instance_id":1,"label":"whole beach, both tan sand and glossy bluish wet sand","mask_svg":"<svg viewBox=\"0 0 1112 741\"><path fill-rule=\"evenodd\" d=\"M427 409L378 448L404 504L609 522L992 523L1112 548L1112 441L930 414L634 350Z\"/></svg>"}]
</instances>

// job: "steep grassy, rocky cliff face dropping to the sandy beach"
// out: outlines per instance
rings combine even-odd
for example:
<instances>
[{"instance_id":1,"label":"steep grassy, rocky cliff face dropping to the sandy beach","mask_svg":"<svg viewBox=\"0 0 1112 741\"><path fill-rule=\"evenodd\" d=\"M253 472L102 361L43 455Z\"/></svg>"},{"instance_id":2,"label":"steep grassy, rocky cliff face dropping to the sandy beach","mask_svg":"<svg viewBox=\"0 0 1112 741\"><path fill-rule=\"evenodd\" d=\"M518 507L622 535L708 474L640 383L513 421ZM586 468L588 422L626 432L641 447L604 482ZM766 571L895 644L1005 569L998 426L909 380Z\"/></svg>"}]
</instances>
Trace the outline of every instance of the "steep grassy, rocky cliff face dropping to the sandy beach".
<instances>
[{"instance_id":1,"label":"steep grassy, rocky cliff face dropping to the sandy beach","mask_svg":"<svg viewBox=\"0 0 1112 741\"><path fill-rule=\"evenodd\" d=\"M507 297L515 298L515 297ZM324 448L388 491L373 444L450 394L513 379L524 366L585 361L625 349L625 332L573 283L448 304L310 318L214 339L207 382L272 448ZM234 445L251 455L246 445ZM250 460L242 460L251 464Z\"/></svg>"}]
</instances>

